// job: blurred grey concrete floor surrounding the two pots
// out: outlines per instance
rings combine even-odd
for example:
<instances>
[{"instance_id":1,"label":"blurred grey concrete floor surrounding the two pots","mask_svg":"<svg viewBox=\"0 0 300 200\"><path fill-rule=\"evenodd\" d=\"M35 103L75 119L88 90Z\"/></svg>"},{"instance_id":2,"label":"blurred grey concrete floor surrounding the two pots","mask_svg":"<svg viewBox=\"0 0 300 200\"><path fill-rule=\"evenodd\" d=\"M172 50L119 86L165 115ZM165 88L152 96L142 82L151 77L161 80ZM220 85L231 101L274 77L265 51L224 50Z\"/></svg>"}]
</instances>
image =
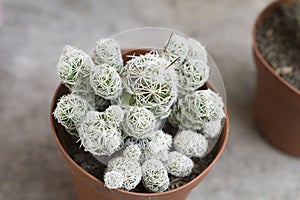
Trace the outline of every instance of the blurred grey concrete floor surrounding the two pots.
<instances>
[{"instance_id":1,"label":"blurred grey concrete floor surrounding the two pots","mask_svg":"<svg viewBox=\"0 0 300 200\"><path fill-rule=\"evenodd\" d=\"M54 143L49 105L61 49L145 26L200 40L222 73L230 138L189 200L300 199L300 159L266 143L253 119L256 70L251 28L270 0L2 0L0 27L0 199L76 199Z\"/></svg>"}]
</instances>

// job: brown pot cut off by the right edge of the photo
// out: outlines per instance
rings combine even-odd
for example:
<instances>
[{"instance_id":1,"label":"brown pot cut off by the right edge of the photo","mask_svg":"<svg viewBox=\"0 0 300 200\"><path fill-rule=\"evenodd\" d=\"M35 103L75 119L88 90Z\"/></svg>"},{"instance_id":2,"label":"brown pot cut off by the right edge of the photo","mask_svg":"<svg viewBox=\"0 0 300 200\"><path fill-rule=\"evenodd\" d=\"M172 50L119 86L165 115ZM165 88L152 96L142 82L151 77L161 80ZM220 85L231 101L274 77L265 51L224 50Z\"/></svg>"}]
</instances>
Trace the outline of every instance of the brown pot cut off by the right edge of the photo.
<instances>
[{"instance_id":1,"label":"brown pot cut off by the right edge of the photo","mask_svg":"<svg viewBox=\"0 0 300 200\"><path fill-rule=\"evenodd\" d=\"M252 32L253 55L257 67L255 118L265 139L276 148L300 156L300 91L275 73L261 55L256 43L256 29L264 17L282 4L271 3L257 17Z\"/></svg>"}]
</instances>

